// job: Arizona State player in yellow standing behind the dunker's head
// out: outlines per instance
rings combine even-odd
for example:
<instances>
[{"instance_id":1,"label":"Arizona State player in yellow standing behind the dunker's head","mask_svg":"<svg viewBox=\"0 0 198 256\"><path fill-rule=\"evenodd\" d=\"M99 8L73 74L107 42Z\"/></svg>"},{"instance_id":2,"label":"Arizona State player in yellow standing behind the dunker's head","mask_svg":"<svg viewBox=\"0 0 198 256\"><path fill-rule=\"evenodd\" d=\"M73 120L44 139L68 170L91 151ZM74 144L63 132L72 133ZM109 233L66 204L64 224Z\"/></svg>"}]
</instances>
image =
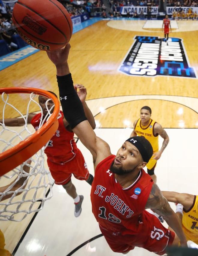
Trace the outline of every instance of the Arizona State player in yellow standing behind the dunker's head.
<instances>
[{"instance_id":1,"label":"Arizona State player in yellow standing behind the dunker's head","mask_svg":"<svg viewBox=\"0 0 198 256\"><path fill-rule=\"evenodd\" d=\"M140 109L140 118L134 121L134 130L130 137L133 136L143 136L151 143L153 148L153 156L147 163L147 172L152 177L153 181L157 182L157 177L154 174L155 166L157 160L160 159L162 152L167 147L169 143L169 136L163 129L161 124L155 122L151 119L151 108L144 106ZM164 141L161 149L158 146L158 135L160 135Z\"/></svg>"}]
</instances>

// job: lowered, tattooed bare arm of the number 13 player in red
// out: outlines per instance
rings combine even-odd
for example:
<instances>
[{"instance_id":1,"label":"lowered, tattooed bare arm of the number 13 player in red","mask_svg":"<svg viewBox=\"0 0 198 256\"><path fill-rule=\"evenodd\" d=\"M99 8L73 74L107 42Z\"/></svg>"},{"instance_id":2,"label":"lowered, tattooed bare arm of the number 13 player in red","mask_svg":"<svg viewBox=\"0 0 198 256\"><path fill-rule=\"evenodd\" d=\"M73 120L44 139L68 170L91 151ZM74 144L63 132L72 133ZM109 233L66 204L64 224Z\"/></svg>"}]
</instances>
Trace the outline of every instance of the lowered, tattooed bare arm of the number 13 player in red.
<instances>
[{"instance_id":1,"label":"lowered, tattooed bare arm of the number 13 player in red","mask_svg":"<svg viewBox=\"0 0 198 256\"><path fill-rule=\"evenodd\" d=\"M182 226L178 221L175 212L171 209L167 199L163 197L161 190L156 184L153 184L151 193L146 203L146 209L152 209L154 212L162 216L167 224L178 235L181 245L187 246L187 241L182 230Z\"/></svg>"}]
</instances>

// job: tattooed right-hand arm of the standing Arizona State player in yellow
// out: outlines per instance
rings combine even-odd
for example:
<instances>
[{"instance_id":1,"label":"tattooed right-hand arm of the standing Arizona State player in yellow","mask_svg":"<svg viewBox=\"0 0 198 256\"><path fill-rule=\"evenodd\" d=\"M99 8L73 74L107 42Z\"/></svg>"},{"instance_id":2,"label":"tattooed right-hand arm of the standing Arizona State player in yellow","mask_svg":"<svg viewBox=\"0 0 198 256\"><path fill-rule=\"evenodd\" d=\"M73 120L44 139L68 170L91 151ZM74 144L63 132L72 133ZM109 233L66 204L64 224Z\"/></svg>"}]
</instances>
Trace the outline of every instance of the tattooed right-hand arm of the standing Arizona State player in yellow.
<instances>
[{"instance_id":1,"label":"tattooed right-hand arm of the standing Arizona State player in yellow","mask_svg":"<svg viewBox=\"0 0 198 256\"><path fill-rule=\"evenodd\" d=\"M162 152L164 151L164 149L167 147L168 143L169 143L169 136L166 133L166 131L164 130L164 128L161 126L161 124L159 123L155 123L154 125L154 134L159 134L163 139L163 143L162 143L162 147L161 149L156 152L155 154L153 154L153 159L160 159Z\"/></svg>"}]
</instances>

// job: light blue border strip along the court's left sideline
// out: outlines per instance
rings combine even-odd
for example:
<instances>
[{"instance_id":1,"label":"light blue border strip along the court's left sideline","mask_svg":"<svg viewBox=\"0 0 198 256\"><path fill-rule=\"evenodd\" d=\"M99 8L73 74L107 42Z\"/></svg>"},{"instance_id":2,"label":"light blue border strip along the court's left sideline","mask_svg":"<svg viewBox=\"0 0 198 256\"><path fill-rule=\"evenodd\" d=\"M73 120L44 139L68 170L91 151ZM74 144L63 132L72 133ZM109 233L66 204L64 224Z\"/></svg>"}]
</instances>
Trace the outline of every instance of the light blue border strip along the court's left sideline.
<instances>
[{"instance_id":1,"label":"light blue border strip along the court's left sideline","mask_svg":"<svg viewBox=\"0 0 198 256\"><path fill-rule=\"evenodd\" d=\"M92 18L89 20L86 20L84 22L82 22L79 25L75 25L73 26L73 34L75 34L76 32L85 29L88 26L91 26L92 24L98 22L99 20L102 20L102 18ZM39 50L27 45L25 47L20 48L19 50L16 50L12 53L8 53L4 56L0 57L0 71L3 69L6 69L9 66L12 66L13 64L19 62L22 59L27 58L28 56L37 53Z\"/></svg>"}]
</instances>

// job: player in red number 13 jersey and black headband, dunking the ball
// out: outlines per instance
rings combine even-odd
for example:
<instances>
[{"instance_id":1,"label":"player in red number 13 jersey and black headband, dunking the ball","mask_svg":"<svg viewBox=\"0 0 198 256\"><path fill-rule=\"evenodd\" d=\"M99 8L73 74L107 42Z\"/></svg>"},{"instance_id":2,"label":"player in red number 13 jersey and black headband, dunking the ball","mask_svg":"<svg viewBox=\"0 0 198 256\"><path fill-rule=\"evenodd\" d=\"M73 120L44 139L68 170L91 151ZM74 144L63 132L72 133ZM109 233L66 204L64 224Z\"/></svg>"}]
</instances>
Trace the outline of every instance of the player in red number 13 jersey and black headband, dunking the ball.
<instances>
[{"instance_id":1,"label":"player in red number 13 jersey and black headband, dunking the ball","mask_svg":"<svg viewBox=\"0 0 198 256\"><path fill-rule=\"evenodd\" d=\"M61 101L64 116L96 160L92 212L111 249L125 254L138 246L163 255L167 245L176 245L178 240L187 246L176 214L143 170L153 154L150 142L141 136L132 137L124 142L116 156L111 154L107 142L96 136L86 120L82 103L73 89L67 63L69 50L68 44L47 54L56 66L59 95L67 99ZM147 208L163 216L177 235L145 211Z\"/></svg>"}]
</instances>

